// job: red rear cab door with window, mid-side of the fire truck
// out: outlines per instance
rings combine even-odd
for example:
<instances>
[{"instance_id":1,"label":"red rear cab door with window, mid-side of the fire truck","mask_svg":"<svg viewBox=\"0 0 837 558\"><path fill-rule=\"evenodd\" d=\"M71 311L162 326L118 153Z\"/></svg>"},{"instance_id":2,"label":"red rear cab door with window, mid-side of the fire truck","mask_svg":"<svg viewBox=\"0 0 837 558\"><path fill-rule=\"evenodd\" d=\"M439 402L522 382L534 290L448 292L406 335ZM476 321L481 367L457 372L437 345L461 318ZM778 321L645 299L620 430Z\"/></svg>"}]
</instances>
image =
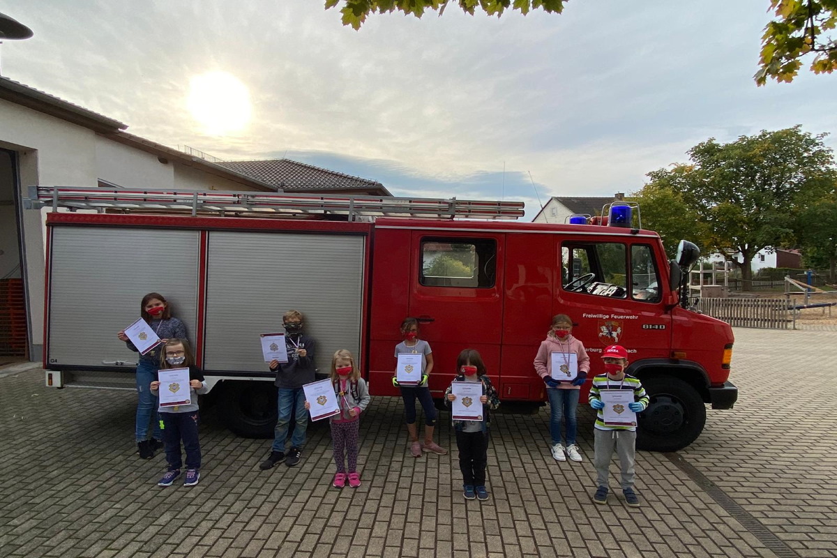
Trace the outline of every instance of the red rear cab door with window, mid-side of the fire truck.
<instances>
[{"instance_id":1,"label":"red rear cab door with window, mid-side of the fire truck","mask_svg":"<svg viewBox=\"0 0 837 558\"><path fill-rule=\"evenodd\" d=\"M413 231L408 312L433 349L430 391L442 395L463 349L500 371L503 233ZM393 362L394 366L394 362Z\"/></svg>"}]
</instances>

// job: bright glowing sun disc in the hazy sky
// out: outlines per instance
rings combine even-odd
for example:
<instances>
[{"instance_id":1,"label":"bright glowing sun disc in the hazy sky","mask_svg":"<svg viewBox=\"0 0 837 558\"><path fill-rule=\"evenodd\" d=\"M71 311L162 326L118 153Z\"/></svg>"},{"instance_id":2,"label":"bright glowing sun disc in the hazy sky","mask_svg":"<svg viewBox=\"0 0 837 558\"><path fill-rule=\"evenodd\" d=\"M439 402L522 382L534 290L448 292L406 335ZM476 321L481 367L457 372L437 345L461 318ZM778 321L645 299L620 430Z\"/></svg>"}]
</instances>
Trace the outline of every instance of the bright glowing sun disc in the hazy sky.
<instances>
[{"instance_id":1,"label":"bright glowing sun disc in the hazy sky","mask_svg":"<svg viewBox=\"0 0 837 558\"><path fill-rule=\"evenodd\" d=\"M234 75L196 75L189 89L189 111L208 134L225 136L243 130L249 122L250 94Z\"/></svg>"}]
</instances>

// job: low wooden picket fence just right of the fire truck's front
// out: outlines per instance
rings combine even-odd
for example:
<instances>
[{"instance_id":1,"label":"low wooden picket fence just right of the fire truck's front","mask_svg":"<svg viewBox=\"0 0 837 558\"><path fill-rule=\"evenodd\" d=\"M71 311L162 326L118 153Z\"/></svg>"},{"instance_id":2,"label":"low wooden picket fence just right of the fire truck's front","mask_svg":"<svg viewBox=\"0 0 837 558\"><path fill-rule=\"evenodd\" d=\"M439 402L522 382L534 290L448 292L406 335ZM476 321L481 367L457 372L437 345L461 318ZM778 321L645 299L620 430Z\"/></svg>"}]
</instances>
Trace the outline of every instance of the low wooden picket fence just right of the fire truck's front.
<instances>
[{"instance_id":1,"label":"low wooden picket fence just right of the fire truck's front","mask_svg":"<svg viewBox=\"0 0 837 558\"><path fill-rule=\"evenodd\" d=\"M793 323L786 299L699 299L697 309L733 327L787 330Z\"/></svg>"}]
</instances>

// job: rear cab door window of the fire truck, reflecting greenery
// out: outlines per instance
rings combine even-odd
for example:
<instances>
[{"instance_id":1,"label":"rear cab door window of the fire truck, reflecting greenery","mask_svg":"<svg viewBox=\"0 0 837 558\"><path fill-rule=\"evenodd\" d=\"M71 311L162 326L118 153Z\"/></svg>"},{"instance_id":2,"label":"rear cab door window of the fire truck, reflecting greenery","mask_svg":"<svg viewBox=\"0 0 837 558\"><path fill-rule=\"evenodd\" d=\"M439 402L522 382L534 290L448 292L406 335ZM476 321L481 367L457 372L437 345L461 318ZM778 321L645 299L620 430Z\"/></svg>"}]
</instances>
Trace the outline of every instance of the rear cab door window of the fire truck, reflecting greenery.
<instances>
[{"instance_id":1,"label":"rear cab door window of the fire truck, reflecting greenery","mask_svg":"<svg viewBox=\"0 0 837 558\"><path fill-rule=\"evenodd\" d=\"M428 287L489 289L497 246L486 238L422 238L419 283Z\"/></svg>"}]
</instances>

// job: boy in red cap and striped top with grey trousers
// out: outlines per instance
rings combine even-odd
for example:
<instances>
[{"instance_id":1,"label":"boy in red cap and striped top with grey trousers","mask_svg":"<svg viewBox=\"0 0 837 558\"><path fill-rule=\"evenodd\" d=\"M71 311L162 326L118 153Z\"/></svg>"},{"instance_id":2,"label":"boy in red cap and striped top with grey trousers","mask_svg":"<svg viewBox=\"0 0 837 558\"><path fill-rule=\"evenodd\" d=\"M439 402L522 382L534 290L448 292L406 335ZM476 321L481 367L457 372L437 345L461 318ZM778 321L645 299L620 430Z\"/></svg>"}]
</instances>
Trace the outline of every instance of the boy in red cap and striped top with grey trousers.
<instances>
[{"instance_id":1,"label":"boy in red cap and striped top with grey trousers","mask_svg":"<svg viewBox=\"0 0 837 558\"><path fill-rule=\"evenodd\" d=\"M639 497L634 492L634 454L636 453L636 426L633 424L606 424L604 422L604 403L601 398L602 390L633 390L634 402L628 404L633 412L642 412L648 407L648 395L645 393L639 378L625 374L628 366L628 351L623 346L611 345L602 353L604 374L593 377L593 387L590 388L590 407L597 410L593 459L598 472L598 489L593 496L596 504L608 503L608 469L610 459L614 454L619 455L619 466L622 471L622 494L629 506L639 506Z\"/></svg>"}]
</instances>

